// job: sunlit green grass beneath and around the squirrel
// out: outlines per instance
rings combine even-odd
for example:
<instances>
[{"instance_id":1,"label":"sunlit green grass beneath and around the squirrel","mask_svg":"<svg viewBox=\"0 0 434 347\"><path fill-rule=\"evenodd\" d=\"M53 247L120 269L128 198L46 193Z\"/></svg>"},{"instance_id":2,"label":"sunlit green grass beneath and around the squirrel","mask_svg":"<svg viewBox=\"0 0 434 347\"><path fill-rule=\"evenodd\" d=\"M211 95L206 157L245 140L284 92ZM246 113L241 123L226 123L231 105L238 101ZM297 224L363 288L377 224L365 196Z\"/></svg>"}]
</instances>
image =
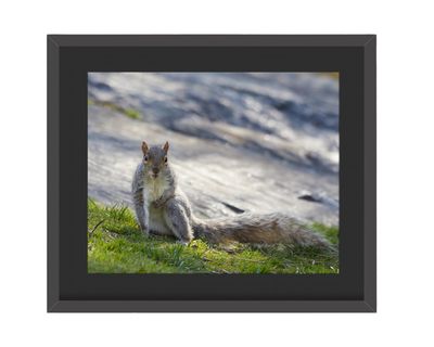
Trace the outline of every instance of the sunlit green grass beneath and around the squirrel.
<instances>
[{"instance_id":1,"label":"sunlit green grass beneath and around the squirrel","mask_svg":"<svg viewBox=\"0 0 434 347\"><path fill-rule=\"evenodd\" d=\"M339 231L311 226L332 243ZM339 273L337 254L285 245L216 246L194 240L145 236L125 206L88 201L88 272L90 273Z\"/></svg>"}]
</instances>

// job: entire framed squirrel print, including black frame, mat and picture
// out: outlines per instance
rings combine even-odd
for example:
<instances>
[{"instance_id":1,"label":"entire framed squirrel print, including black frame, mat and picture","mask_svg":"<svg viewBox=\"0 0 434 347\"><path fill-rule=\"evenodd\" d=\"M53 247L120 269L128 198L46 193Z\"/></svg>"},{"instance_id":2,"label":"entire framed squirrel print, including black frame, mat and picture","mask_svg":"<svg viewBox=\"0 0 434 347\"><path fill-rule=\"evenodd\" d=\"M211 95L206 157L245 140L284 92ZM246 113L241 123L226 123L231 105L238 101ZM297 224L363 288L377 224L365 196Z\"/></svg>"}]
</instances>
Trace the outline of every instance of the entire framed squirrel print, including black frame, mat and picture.
<instances>
[{"instance_id":1,"label":"entire framed squirrel print, including black frame, mat and picture","mask_svg":"<svg viewBox=\"0 0 434 347\"><path fill-rule=\"evenodd\" d=\"M48 311L367 311L375 36L48 36Z\"/></svg>"}]
</instances>

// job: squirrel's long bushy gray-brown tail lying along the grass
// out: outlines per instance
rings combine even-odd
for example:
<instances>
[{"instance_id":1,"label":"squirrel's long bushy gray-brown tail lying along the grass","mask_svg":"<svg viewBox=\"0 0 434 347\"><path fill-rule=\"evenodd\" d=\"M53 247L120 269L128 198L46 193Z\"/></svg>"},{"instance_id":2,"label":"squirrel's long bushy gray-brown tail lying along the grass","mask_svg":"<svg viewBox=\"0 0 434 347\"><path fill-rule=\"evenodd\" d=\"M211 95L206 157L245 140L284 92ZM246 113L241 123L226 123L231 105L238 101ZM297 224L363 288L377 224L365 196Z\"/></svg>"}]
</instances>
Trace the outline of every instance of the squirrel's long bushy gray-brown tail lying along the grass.
<instances>
[{"instance_id":1,"label":"squirrel's long bushy gray-brown tail lying along the grass","mask_svg":"<svg viewBox=\"0 0 434 347\"><path fill-rule=\"evenodd\" d=\"M295 218L282 214L243 214L233 218L201 220L193 218L195 237L212 243L238 241L241 243L286 243L299 246L332 248L320 234L308 229Z\"/></svg>"}]
</instances>

